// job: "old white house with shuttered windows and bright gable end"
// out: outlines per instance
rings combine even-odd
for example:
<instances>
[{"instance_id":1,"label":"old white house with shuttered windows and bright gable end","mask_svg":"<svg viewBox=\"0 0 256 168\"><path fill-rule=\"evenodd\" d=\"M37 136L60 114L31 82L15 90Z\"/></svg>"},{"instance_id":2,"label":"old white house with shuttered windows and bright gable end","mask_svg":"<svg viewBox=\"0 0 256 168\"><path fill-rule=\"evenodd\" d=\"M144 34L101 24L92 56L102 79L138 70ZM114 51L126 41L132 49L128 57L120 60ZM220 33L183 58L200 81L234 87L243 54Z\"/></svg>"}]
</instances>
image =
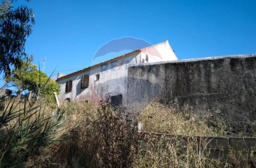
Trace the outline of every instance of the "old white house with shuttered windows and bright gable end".
<instances>
[{"instance_id":1,"label":"old white house with shuttered windows and bright gable end","mask_svg":"<svg viewBox=\"0 0 256 168\"><path fill-rule=\"evenodd\" d=\"M128 65L176 60L178 58L168 41L140 48L68 75L58 75L56 81L61 86L58 98L61 103L108 100L114 105L126 105Z\"/></svg>"}]
</instances>

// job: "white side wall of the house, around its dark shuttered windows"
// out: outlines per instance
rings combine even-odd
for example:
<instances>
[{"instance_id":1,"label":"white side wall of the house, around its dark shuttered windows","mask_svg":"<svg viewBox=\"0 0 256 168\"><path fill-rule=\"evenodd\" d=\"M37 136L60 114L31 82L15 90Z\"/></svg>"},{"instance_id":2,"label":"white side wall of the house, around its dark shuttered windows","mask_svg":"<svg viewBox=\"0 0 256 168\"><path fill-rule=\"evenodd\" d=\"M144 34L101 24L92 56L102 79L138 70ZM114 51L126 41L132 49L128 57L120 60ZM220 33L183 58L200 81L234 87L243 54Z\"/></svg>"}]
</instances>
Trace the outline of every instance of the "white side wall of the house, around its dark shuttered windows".
<instances>
[{"instance_id":1,"label":"white side wall of the house, around its dark shuttered windows","mask_svg":"<svg viewBox=\"0 0 256 168\"><path fill-rule=\"evenodd\" d=\"M123 95L123 104L126 104L126 88L128 65L134 64L134 58L139 53L133 53L125 58L119 58L115 61L91 68L83 73L71 75L68 78L58 80L61 86L59 99L61 103L69 98L70 100L89 100L98 102L106 100L108 95ZM95 81L96 74L100 74L100 80ZM88 88L81 88L82 75L89 75ZM65 93L66 82L73 80L71 93Z\"/></svg>"}]
</instances>

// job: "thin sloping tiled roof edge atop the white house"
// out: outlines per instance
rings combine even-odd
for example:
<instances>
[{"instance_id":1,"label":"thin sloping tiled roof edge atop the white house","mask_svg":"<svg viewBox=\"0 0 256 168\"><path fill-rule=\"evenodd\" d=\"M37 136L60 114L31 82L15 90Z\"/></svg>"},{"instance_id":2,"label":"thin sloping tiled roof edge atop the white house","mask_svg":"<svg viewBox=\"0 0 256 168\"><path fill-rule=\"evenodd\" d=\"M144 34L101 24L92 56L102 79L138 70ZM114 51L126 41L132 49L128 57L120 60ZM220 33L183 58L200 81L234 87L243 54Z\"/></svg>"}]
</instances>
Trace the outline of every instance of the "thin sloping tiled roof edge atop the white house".
<instances>
[{"instance_id":1,"label":"thin sloping tiled roof edge atop the white house","mask_svg":"<svg viewBox=\"0 0 256 168\"><path fill-rule=\"evenodd\" d=\"M140 49L137 49L137 50L134 50L134 51L130 51L129 53L124 53L124 54L122 54L121 56L116 56L116 57L114 57L114 58L108 59L108 60L103 61L103 62L101 62L101 63L96 63L96 64L94 64L94 65L88 66L88 67L83 68L83 69L81 69L81 70L76 70L75 72L69 73L68 75L63 75L63 76L61 76L61 78L58 78L57 80L61 80L61 79L67 78L67 77L69 77L69 76L71 76L71 75L75 75L75 74L77 74L77 73L81 73L81 72L83 72L84 70L88 70L88 69L90 69L90 68L94 68L94 67L96 67L96 66L98 66L98 65L103 65L104 63L108 63L108 62L110 62L110 61L116 60L117 58L129 56L130 54L132 54L132 53L137 53L137 52L139 52L139 51L140 51Z\"/></svg>"}]
</instances>

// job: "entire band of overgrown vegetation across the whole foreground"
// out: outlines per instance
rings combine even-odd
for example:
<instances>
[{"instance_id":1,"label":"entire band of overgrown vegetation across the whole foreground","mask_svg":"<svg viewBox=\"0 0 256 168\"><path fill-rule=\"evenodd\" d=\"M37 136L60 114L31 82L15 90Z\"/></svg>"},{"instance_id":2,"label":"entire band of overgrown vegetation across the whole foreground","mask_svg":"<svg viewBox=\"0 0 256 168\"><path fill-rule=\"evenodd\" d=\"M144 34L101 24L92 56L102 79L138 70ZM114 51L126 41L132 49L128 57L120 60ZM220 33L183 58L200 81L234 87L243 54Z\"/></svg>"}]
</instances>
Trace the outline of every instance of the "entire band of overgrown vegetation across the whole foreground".
<instances>
[{"instance_id":1,"label":"entire band of overgrown vegetation across the whole foreground","mask_svg":"<svg viewBox=\"0 0 256 168\"><path fill-rule=\"evenodd\" d=\"M42 103L17 100L8 100L1 111L1 167L256 166L255 149L216 152L207 147L210 140L195 137L219 135L219 130L192 112L188 117L189 108L180 114L153 103L138 120L130 120L126 110L113 110L107 103L97 108L67 103L52 115L53 109ZM147 133L138 133L138 121Z\"/></svg>"}]
</instances>

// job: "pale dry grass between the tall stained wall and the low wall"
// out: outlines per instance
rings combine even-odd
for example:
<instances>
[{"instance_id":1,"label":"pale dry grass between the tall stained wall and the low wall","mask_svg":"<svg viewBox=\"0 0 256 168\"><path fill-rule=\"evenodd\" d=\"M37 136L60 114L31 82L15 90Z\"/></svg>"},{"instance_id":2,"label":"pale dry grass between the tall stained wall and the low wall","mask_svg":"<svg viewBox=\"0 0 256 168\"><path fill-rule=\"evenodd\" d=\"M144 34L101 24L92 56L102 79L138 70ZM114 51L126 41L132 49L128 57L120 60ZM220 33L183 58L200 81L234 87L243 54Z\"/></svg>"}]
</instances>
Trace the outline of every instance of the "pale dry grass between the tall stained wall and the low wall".
<instances>
[{"instance_id":1,"label":"pale dry grass between the tall stained wall and the low wall","mask_svg":"<svg viewBox=\"0 0 256 168\"><path fill-rule=\"evenodd\" d=\"M205 115L205 120L207 117ZM140 113L138 120L143 122L143 131L147 132L193 136L225 135L225 125L219 123L222 127L216 130L209 127L201 118L203 117L194 115L190 107L184 107L180 112L160 103L152 103Z\"/></svg>"}]
</instances>

